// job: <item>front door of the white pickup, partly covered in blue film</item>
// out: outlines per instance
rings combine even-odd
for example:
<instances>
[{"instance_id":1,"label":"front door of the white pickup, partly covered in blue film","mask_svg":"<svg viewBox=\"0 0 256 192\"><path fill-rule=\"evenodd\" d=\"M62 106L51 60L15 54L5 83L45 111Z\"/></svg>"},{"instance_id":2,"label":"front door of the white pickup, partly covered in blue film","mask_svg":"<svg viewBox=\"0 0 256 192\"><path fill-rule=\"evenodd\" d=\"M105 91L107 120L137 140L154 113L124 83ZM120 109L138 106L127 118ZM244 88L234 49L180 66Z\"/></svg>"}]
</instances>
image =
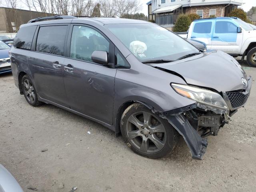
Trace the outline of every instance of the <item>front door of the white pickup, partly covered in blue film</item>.
<instances>
[{"instance_id":1,"label":"front door of the white pickup, partly covered in blue film","mask_svg":"<svg viewBox=\"0 0 256 192\"><path fill-rule=\"evenodd\" d=\"M238 27L231 21L216 20L212 34L212 49L231 54L240 53L243 32L238 33Z\"/></svg>"}]
</instances>

